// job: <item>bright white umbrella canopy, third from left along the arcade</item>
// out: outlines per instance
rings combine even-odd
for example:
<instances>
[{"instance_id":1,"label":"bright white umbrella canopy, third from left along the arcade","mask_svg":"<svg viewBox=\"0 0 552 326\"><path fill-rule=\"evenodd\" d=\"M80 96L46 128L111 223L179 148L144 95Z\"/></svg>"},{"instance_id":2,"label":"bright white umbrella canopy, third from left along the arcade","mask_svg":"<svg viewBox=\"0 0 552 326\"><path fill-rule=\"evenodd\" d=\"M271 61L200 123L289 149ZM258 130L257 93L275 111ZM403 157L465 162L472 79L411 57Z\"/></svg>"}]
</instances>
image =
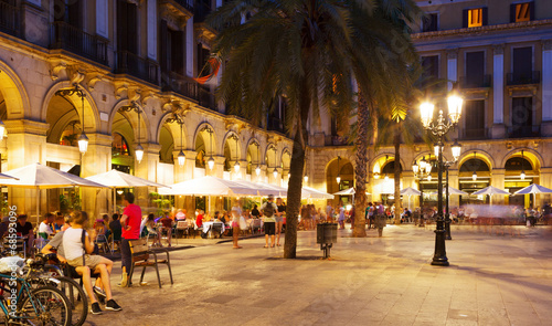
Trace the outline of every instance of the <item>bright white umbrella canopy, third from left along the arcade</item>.
<instances>
[{"instance_id":1,"label":"bright white umbrella canopy, third from left along the arcade","mask_svg":"<svg viewBox=\"0 0 552 326\"><path fill-rule=\"evenodd\" d=\"M159 193L182 196L256 196L257 191L234 181L206 176L176 183L170 186L170 188L159 188Z\"/></svg>"}]
</instances>

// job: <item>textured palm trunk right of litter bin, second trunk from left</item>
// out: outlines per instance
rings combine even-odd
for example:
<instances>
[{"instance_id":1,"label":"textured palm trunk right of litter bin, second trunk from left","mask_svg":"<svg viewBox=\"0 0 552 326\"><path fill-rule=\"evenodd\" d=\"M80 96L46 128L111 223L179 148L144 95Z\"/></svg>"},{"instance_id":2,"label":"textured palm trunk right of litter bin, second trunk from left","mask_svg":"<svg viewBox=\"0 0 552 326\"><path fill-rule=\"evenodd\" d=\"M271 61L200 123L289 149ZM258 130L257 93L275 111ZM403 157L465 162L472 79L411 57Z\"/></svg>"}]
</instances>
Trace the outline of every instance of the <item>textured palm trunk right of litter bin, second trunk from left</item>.
<instances>
[{"instance_id":1,"label":"textured palm trunk right of litter bin, second trunk from left","mask_svg":"<svg viewBox=\"0 0 552 326\"><path fill-rule=\"evenodd\" d=\"M367 209L367 168L368 168L368 126L370 115L368 112L368 103L359 94L359 108L357 113L357 167L354 168L354 230L352 236L367 236L365 209Z\"/></svg>"}]
</instances>

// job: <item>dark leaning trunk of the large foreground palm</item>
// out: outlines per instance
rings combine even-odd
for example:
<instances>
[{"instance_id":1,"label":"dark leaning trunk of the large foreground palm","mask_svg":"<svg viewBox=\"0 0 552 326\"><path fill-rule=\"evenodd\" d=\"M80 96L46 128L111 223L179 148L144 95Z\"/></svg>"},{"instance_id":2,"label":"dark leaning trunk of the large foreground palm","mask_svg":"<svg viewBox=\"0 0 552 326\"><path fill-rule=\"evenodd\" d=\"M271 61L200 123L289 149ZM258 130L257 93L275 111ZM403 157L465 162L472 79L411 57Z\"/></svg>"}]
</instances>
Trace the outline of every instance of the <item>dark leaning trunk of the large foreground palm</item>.
<instances>
[{"instance_id":1,"label":"dark leaning trunk of the large foreground palm","mask_svg":"<svg viewBox=\"0 0 552 326\"><path fill-rule=\"evenodd\" d=\"M310 97L307 87L304 86L302 88L299 107L300 117L297 122L291 161L289 162L290 177L287 187L285 259L295 259L297 255L297 218L301 207L302 169L305 166L305 149L308 141L307 119L310 111Z\"/></svg>"}]
</instances>

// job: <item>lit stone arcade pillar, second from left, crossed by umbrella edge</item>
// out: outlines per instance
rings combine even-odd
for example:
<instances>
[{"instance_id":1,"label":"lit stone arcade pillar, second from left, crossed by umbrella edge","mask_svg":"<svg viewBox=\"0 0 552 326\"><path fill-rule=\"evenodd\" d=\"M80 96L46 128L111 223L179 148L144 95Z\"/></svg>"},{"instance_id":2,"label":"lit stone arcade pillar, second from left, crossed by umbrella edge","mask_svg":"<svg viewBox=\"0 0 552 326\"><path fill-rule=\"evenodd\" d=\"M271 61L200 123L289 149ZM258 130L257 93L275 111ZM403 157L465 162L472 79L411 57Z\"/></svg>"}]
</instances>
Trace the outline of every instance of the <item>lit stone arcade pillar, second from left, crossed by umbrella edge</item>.
<instances>
[{"instance_id":1,"label":"lit stone arcade pillar, second from left, crossed by umbrella edge","mask_svg":"<svg viewBox=\"0 0 552 326\"><path fill-rule=\"evenodd\" d=\"M86 134L88 149L81 155L81 177L86 178L112 169L112 136ZM113 194L108 188L82 188L81 202L91 220L102 213L113 213Z\"/></svg>"}]
</instances>

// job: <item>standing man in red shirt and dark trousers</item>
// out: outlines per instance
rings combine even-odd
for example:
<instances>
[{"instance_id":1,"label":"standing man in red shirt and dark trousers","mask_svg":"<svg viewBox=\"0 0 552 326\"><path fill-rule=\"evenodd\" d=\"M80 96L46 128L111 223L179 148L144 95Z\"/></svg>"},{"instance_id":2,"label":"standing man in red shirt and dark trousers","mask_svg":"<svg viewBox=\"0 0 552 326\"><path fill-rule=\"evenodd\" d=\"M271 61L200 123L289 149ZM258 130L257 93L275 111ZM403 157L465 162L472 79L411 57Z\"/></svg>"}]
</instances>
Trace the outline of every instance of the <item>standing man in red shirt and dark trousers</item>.
<instances>
[{"instance_id":1,"label":"standing man in red shirt and dark trousers","mask_svg":"<svg viewBox=\"0 0 552 326\"><path fill-rule=\"evenodd\" d=\"M140 239L141 209L134 202L134 193L126 192L123 198L125 210L123 211L123 217L120 218L120 224L123 228L123 239L120 241L120 265L123 269L123 278L120 282L121 287L130 285L128 282L128 273L130 272L130 266L132 265L132 255L130 253L129 241Z\"/></svg>"}]
</instances>

